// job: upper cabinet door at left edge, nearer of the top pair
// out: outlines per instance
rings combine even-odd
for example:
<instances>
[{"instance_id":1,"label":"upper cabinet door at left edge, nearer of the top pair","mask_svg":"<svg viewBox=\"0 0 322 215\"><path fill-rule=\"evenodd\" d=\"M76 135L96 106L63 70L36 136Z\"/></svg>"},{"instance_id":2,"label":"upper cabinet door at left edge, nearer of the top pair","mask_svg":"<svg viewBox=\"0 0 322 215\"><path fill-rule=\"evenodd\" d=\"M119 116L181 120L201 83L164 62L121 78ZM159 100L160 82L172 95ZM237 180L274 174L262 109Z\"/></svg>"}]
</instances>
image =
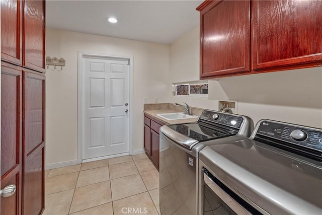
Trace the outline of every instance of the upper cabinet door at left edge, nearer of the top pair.
<instances>
[{"instance_id":1,"label":"upper cabinet door at left edge, nearer of the top pair","mask_svg":"<svg viewBox=\"0 0 322 215\"><path fill-rule=\"evenodd\" d=\"M1 1L1 59L22 65L22 1Z\"/></svg>"}]
</instances>

